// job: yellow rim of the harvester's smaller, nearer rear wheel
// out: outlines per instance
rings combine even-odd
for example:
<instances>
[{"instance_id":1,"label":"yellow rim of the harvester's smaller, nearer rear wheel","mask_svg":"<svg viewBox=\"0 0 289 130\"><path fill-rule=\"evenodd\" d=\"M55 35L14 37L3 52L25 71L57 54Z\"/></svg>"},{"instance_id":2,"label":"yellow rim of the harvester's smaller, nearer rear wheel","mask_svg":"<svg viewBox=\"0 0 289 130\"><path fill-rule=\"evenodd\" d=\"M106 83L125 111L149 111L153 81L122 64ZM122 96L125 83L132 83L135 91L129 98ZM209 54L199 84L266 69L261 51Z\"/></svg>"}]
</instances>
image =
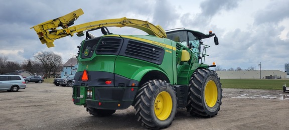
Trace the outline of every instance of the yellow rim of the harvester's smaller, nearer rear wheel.
<instances>
[{"instance_id":1,"label":"yellow rim of the harvester's smaller, nearer rear wheel","mask_svg":"<svg viewBox=\"0 0 289 130\"><path fill-rule=\"evenodd\" d=\"M154 107L155 114L160 120L167 119L170 116L173 108L171 95L166 91L159 93L156 98Z\"/></svg>"}]
</instances>

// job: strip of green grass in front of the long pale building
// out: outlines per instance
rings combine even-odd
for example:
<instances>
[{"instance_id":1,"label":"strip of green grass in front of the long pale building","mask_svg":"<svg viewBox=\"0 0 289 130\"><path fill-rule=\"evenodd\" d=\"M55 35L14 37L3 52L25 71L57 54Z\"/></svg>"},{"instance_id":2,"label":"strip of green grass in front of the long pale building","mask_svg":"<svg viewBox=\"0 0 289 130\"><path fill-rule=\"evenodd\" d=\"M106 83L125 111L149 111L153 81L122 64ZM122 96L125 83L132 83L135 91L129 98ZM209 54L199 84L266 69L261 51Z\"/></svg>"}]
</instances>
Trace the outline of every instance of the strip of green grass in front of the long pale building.
<instances>
[{"instance_id":1,"label":"strip of green grass in front of the long pale building","mask_svg":"<svg viewBox=\"0 0 289 130\"><path fill-rule=\"evenodd\" d=\"M281 79L221 79L222 88L282 90L289 80Z\"/></svg>"}]
</instances>

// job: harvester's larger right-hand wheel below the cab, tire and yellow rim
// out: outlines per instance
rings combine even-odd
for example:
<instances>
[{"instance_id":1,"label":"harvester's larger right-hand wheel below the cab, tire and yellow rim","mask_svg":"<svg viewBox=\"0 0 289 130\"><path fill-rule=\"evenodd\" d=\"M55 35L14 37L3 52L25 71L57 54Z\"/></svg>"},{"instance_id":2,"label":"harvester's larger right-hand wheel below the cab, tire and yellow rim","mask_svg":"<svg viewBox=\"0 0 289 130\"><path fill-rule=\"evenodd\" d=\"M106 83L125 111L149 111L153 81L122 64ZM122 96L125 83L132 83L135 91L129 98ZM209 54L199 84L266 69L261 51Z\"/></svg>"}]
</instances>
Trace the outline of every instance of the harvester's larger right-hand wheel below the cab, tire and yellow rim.
<instances>
[{"instance_id":1,"label":"harvester's larger right-hand wheel below the cab, tire and yellow rim","mask_svg":"<svg viewBox=\"0 0 289 130\"><path fill-rule=\"evenodd\" d=\"M187 111L192 115L213 117L222 104L222 88L217 73L208 69L198 69L189 83Z\"/></svg>"}]
</instances>

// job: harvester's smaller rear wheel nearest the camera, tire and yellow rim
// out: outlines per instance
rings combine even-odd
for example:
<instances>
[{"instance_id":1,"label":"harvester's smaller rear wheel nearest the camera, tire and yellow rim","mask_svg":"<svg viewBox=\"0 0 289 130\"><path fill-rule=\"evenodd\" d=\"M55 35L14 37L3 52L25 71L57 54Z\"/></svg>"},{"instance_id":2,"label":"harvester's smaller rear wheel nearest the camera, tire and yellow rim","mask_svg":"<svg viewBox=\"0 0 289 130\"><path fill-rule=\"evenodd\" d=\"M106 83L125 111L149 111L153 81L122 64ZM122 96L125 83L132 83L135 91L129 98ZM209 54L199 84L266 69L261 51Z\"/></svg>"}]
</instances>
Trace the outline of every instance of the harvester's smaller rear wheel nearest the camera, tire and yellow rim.
<instances>
[{"instance_id":1,"label":"harvester's smaller rear wheel nearest the camera, tire and yellow rim","mask_svg":"<svg viewBox=\"0 0 289 130\"><path fill-rule=\"evenodd\" d=\"M135 100L135 115L142 125L160 129L172 124L177 109L177 97L170 83L150 80L141 86Z\"/></svg>"}]
</instances>

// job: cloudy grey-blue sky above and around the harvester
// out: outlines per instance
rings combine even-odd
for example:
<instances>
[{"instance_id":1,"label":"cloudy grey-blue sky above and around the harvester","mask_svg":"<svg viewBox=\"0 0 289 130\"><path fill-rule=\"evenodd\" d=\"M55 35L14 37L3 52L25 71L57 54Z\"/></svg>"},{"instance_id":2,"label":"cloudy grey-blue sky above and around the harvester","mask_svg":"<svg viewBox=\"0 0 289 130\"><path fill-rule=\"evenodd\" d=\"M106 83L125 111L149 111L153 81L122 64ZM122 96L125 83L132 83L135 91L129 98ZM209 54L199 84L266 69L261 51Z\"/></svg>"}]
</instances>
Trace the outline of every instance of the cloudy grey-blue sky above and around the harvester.
<instances>
[{"instance_id":1,"label":"cloudy grey-blue sky above and around the harvester","mask_svg":"<svg viewBox=\"0 0 289 130\"><path fill-rule=\"evenodd\" d=\"M198 0L198 1L29 1L0 0L0 55L9 61L33 59L41 51L60 54L65 63L77 53L84 37L65 37L47 48L31 27L81 8L84 15L74 25L104 19L131 18L161 25L165 30L184 27L203 33L213 31L219 38L205 40L210 45L206 63L223 69L284 71L289 63L288 0ZM117 34L143 34L131 28L109 28Z\"/></svg>"}]
</instances>

